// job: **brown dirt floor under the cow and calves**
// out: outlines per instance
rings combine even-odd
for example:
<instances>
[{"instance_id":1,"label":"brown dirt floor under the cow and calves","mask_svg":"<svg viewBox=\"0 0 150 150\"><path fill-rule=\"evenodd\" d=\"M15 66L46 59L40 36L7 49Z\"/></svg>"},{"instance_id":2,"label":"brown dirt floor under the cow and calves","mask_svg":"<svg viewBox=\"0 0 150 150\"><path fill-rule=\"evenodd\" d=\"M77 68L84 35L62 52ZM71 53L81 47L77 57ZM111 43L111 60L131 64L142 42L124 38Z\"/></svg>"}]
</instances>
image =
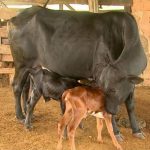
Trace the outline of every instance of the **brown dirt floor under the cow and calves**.
<instances>
[{"instance_id":1,"label":"brown dirt floor under the cow and calves","mask_svg":"<svg viewBox=\"0 0 150 150\"><path fill-rule=\"evenodd\" d=\"M145 140L134 138L130 128L121 127L125 141L121 143L124 150L150 150L150 88L136 88L136 114L146 121ZM14 97L10 87L0 88L0 150L55 150L57 145L57 122L60 107L56 101L44 103L41 99L35 109L32 131L27 131L19 123L14 113ZM124 106L121 115L126 116ZM95 118L83 121L84 130L77 129L77 150L115 150L106 127L103 129L103 144L96 141ZM64 149L69 150L68 141L63 142Z\"/></svg>"}]
</instances>

